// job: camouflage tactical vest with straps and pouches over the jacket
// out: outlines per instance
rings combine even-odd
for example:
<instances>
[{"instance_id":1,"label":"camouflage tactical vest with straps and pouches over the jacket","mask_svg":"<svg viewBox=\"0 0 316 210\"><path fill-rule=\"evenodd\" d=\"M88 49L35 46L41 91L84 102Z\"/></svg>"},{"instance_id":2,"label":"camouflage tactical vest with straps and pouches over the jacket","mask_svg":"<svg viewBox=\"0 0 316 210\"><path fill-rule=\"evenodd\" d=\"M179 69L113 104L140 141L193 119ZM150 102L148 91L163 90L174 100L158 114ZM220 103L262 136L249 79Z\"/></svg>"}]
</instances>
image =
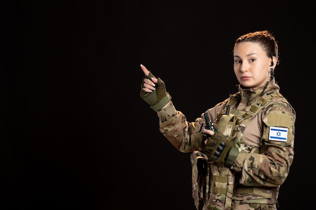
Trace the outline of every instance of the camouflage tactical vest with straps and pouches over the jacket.
<instances>
[{"instance_id":1,"label":"camouflage tactical vest with straps and pouches over the jacket","mask_svg":"<svg viewBox=\"0 0 316 210\"><path fill-rule=\"evenodd\" d=\"M229 140L233 141L233 146L238 148L239 153L259 153L257 147L245 145L242 142L244 128L249 120L255 116L261 109L272 106L276 101L287 100L280 93L264 95L258 101L255 101L244 110L227 108L237 107L240 102L238 94L230 95L226 108L217 115L217 128ZM232 200L242 200L244 203L268 203L275 204L278 197L279 187L249 187L237 186L235 174L227 167L221 164L208 162L206 155L199 151L191 154L192 164L192 197L194 198L196 209L199 209L199 202L203 201L203 209L231 209ZM233 166L234 167L234 166ZM241 170L234 168L235 171ZM255 195L256 199L245 198L245 193L251 197Z\"/></svg>"}]
</instances>

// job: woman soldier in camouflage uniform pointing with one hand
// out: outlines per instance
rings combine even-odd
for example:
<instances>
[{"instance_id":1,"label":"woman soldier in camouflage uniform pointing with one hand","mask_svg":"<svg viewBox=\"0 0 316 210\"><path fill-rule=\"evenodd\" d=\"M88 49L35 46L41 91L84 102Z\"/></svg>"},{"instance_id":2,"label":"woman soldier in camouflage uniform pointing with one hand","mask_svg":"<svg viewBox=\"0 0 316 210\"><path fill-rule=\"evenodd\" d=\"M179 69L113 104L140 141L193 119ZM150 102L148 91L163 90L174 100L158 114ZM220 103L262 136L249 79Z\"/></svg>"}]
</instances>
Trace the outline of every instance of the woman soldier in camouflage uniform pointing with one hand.
<instances>
[{"instance_id":1,"label":"woman soldier in camouflage uniform pointing with one hand","mask_svg":"<svg viewBox=\"0 0 316 210\"><path fill-rule=\"evenodd\" d=\"M275 210L293 161L296 118L274 77L278 44L271 32L255 31L236 39L233 56L238 92L194 122L143 65L140 96L157 112L171 144L192 152L197 209L202 203L203 209Z\"/></svg>"}]
</instances>

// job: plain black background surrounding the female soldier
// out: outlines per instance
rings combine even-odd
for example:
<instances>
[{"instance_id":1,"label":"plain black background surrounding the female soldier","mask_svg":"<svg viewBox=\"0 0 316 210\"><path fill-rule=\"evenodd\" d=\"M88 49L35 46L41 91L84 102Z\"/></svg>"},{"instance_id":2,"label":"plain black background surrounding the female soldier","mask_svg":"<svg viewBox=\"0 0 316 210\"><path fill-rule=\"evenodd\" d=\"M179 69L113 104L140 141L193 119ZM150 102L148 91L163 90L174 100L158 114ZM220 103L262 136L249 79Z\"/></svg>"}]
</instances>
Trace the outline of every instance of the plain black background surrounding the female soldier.
<instances>
[{"instance_id":1,"label":"plain black background surrounding the female soldier","mask_svg":"<svg viewBox=\"0 0 316 210\"><path fill-rule=\"evenodd\" d=\"M140 97L144 64L194 121L236 92L238 36L270 30L297 112L279 208L308 209L315 40L303 1L10 1L1 14L1 209L195 209L190 154ZM306 189L306 190L305 190Z\"/></svg>"}]
</instances>

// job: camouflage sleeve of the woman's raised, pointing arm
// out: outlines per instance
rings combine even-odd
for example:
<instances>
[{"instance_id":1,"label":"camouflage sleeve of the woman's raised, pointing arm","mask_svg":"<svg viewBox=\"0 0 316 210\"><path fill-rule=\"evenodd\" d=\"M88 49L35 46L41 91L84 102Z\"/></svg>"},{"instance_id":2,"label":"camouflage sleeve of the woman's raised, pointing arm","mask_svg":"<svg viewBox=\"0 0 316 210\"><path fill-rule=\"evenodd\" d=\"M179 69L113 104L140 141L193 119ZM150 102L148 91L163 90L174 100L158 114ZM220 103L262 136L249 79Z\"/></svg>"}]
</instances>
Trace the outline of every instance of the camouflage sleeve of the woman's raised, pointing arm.
<instances>
[{"instance_id":1,"label":"camouflage sleeve of the woman's raised, pointing arm","mask_svg":"<svg viewBox=\"0 0 316 210\"><path fill-rule=\"evenodd\" d=\"M175 109L172 101L169 103L165 109L157 112L160 118L160 132L180 152L189 153L203 150L205 147L203 127L201 127L205 122L203 114L194 122L188 122L185 115ZM207 110L210 119L216 118L220 104Z\"/></svg>"}]
</instances>

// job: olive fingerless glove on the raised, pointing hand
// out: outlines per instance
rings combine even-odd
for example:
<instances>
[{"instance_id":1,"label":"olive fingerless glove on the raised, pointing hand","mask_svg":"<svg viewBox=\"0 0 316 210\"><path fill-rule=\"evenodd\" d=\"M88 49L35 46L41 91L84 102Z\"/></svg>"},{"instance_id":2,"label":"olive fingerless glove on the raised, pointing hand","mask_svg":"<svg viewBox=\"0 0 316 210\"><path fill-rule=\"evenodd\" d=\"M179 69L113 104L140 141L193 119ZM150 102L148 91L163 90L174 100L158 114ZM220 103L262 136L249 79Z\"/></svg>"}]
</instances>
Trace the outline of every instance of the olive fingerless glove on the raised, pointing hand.
<instances>
[{"instance_id":1,"label":"olive fingerless glove on the raised, pointing hand","mask_svg":"<svg viewBox=\"0 0 316 210\"><path fill-rule=\"evenodd\" d=\"M171 100L171 96L167 93L165 83L160 78L157 78L158 82L155 83L156 90L153 90L151 93L143 91L142 88L145 78L151 80L151 78L155 77L149 72L148 76L143 78L143 82L140 87L140 97L146 101L154 111L159 111Z\"/></svg>"}]
</instances>

